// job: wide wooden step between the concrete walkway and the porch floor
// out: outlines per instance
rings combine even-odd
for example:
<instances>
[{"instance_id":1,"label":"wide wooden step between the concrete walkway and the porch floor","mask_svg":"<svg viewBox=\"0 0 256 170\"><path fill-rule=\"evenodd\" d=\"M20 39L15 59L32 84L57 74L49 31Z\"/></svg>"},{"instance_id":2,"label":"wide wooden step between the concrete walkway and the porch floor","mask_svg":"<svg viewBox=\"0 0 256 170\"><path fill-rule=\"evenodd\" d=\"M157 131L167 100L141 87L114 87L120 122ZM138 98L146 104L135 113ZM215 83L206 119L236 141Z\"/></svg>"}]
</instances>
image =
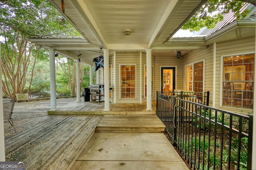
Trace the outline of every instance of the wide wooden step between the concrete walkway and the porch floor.
<instances>
[{"instance_id":1,"label":"wide wooden step between the concrete walkway and the porch floor","mask_svg":"<svg viewBox=\"0 0 256 170\"><path fill-rule=\"evenodd\" d=\"M164 132L165 125L157 115L104 115L96 132Z\"/></svg>"}]
</instances>

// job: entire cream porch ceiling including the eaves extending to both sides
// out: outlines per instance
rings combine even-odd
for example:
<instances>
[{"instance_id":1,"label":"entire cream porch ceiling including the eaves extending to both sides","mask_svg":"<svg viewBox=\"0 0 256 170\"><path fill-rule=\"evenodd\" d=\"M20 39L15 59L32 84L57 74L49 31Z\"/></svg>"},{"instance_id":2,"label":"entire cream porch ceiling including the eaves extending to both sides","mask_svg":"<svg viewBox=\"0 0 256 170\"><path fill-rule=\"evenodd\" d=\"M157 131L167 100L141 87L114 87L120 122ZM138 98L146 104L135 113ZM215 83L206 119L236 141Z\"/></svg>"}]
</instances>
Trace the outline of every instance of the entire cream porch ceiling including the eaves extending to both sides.
<instances>
[{"instance_id":1,"label":"entire cream porch ceiling including the eaves extending to both sides","mask_svg":"<svg viewBox=\"0 0 256 170\"><path fill-rule=\"evenodd\" d=\"M49 0L83 37L40 37L28 41L83 63L109 53L153 49L153 56L175 57L175 50L186 55L193 49L206 49L210 43L255 35L255 21L232 23L207 37L172 38L174 33L206 0ZM129 36L124 29L132 29ZM254 31L253 31L254 30ZM78 54L82 54L78 57Z\"/></svg>"}]
</instances>

